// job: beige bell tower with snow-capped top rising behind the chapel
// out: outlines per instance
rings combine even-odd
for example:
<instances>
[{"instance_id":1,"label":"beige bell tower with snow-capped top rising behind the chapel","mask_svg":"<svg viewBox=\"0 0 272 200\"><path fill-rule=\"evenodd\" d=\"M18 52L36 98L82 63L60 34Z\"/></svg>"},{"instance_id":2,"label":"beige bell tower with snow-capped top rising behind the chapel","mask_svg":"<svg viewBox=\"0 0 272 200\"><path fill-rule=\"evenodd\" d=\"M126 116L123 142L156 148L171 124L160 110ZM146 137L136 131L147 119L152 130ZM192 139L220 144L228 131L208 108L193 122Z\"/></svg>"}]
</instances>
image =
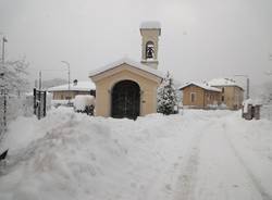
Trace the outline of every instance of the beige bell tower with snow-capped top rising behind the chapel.
<instances>
[{"instance_id":1,"label":"beige bell tower with snow-capped top rising behind the chapel","mask_svg":"<svg viewBox=\"0 0 272 200\"><path fill-rule=\"evenodd\" d=\"M141 64L158 70L158 49L161 25L159 22L143 22L140 24L141 35Z\"/></svg>"}]
</instances>

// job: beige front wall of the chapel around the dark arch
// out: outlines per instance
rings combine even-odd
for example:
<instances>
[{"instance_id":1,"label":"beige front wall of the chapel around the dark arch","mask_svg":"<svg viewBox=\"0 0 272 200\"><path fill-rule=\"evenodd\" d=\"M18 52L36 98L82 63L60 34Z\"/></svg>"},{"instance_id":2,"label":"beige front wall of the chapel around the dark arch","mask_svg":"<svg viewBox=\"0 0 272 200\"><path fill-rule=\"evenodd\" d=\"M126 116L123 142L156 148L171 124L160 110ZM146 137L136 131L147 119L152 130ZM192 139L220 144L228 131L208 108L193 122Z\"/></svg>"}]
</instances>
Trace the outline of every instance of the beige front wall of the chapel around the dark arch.
<instances>
[{"instance_id":1,"label":"beige front wall of the chapel around the dark arch","mask_svg":"<svg viewBox=\"0 0 272 200\"><path fill-rule=\"evenodd\" d=\"M121 80L136 82L140 87L140 116L157 112L157 88L161 78L122 64L90 77L96 84L96 116L111 116L111 90Z\"/></svg>"}]
</instances>

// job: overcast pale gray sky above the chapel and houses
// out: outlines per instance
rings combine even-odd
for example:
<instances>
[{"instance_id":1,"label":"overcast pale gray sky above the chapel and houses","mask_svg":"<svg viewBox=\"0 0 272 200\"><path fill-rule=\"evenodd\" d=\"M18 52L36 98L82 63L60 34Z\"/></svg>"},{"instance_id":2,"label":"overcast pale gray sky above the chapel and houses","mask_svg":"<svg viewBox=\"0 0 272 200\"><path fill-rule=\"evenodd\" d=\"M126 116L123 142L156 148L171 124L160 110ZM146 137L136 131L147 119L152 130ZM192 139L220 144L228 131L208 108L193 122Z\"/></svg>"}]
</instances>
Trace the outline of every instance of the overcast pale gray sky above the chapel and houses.
<instances>
[{"instance_id":1,"label":"overcast pale gray sky above the chapel and houses","mask_svg":"<svg viewBox=\"0 0 272 200\"><path fill-rule=\"evenodd\" d=\"M272 0L0 0L7 59L26 57L33 79L63 70L62 60L81 80L123 57L140 61L139 24L150 20L162 25L159 70L181 83L272 79Z\"/></svg>"}]
</instances>

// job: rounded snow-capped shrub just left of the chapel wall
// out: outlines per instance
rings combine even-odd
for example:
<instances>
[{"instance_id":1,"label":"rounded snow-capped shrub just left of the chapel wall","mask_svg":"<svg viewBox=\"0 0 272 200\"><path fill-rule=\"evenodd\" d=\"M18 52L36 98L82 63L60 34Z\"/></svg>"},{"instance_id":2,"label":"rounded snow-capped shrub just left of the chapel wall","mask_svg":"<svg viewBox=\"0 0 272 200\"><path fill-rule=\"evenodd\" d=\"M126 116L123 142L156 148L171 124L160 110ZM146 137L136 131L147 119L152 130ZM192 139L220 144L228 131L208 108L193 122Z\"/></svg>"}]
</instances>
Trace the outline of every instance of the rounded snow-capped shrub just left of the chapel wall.
<instances>
[{"instance_id":1,"label":"rounded snow-capped shrub just left of the chapel wall","mask_svg":"<svg viewBox=\"0 0 272 200\"><path fill-rule=\"evenodd\" d=\"M84 112L92 115L95 109L95 97L88 95L75 96L74 109L76 112Z\"/></svg>"}]
</instances>

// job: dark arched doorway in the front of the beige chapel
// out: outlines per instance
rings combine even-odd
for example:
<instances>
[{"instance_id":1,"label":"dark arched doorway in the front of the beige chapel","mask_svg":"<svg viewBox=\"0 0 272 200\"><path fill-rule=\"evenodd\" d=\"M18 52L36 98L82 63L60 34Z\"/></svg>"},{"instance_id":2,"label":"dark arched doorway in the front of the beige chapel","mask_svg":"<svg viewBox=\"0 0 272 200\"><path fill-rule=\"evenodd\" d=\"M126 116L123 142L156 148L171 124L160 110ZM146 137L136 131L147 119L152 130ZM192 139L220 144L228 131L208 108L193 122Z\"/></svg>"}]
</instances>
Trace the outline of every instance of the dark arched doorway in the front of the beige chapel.
<instances>
[{"instance_id":1,"label":"dark arched doorway in the front of the beige chapel","mask_svg":"<svg viewBox=\"0 0 272 200\"><path fill-rule=\"evenodd\" d=\"M111 116L137 118L140 112L140 88L133 80L121 80L112 88Z\"/></svg>"}]
</instances>

